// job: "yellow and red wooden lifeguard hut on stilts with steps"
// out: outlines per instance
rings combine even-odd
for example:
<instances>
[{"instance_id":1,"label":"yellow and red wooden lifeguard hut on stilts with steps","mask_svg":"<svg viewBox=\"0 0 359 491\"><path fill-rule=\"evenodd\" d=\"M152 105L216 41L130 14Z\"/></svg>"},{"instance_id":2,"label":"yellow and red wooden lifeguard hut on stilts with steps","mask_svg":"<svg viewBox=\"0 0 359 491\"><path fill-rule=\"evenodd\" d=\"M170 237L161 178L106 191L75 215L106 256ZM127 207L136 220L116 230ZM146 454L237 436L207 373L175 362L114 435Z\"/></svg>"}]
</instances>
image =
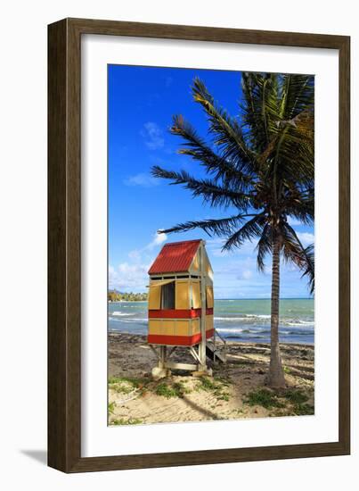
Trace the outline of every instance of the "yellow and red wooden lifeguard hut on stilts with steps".
<instances>
[{"instance_id":1,"label":"yellow and red wooden lifeguard hut on stilts with steps","mask_svg":"<svg viewBox=\"0 0 359 491\"><path fill-rule=\"evenodd\" d=\"M216 345L213 270L205 241L164 245L149 275L148 343L159 359L152 375L166 377L171 369L211 373L207 357L225 362L225 342L223 354ZM170 362L177 346L187 346L196 363Z\"/></svg>"}]
</instances>

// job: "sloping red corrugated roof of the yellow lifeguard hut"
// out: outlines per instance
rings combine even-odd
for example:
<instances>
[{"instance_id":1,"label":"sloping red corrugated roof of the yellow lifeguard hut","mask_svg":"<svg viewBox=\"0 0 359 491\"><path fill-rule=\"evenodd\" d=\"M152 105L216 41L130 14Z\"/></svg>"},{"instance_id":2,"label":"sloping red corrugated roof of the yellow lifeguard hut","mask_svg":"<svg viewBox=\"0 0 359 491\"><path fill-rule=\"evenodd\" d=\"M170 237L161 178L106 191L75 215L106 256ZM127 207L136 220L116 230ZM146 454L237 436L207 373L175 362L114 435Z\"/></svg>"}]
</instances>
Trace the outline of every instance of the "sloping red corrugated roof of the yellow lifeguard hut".
<instances>
[{"instance_id":1,"label":"sloping red corrugated roof of the yellow lifeguard hut","mask_svg":"<svg viewBox=\"0 0 359 491\"><path fill-rule=\"evenodd\" d=\"M151 265L149 274L176 273L188 271L200 245L199 240L172 242L162 247Z\"/></svg>"}]
</instances>

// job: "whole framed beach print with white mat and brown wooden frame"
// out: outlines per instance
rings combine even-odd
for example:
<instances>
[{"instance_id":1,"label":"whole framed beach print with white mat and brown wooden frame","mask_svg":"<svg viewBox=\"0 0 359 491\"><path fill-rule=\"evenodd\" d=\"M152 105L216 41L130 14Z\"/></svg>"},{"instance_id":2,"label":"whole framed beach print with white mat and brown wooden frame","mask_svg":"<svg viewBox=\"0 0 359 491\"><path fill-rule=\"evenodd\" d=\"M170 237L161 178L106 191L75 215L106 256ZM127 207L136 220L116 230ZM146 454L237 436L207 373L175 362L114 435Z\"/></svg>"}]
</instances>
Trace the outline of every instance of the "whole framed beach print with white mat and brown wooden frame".
<instances>
[{"instance_id":1,"label":"whole framed beach print with white mat and brown wooden frame","mask_svg":"<svg viewBox=\"0 0 359 491\"><path fill-rule=\"evenodd\" d=\"M349 37L48 34L49 465L349 454Z\"/></svg>"}]
</instances>

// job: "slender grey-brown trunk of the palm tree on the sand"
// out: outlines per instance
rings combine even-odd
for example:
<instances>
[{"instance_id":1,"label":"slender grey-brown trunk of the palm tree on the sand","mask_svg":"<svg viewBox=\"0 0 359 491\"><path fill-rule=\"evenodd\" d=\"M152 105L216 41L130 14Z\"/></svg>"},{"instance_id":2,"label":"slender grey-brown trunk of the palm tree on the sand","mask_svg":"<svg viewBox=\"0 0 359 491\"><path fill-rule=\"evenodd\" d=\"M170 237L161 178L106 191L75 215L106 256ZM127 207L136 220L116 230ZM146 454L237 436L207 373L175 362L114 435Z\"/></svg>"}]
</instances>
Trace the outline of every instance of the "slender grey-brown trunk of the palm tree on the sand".
<instances>
[{"instance_id":1,"label":"slender grey-brown trunk of the palm tree on the sand","mask_svg":"<svg viewBox=\"0 0 359 491\"><path fill-rule=\"evenodd\" d=\"M272 300L271 300L271 362L266 377L270 387L284 387L284 372L281 367L281 351L279 347L279 285L280 285L280 245L278 237L273 237L272 262Z\"/></svg>"}]
</instances>

